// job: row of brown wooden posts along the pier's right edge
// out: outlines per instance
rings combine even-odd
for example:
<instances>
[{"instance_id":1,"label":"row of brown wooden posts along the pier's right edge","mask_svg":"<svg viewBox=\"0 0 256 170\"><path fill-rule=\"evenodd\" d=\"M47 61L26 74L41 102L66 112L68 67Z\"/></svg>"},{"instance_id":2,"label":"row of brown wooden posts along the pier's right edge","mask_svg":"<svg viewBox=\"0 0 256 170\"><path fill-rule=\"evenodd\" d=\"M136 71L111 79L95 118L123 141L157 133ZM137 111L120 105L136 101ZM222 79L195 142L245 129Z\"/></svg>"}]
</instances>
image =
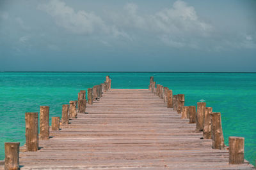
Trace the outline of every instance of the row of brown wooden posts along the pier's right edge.
<instances>
[{"instance_id":1,"label":"row of brown wooden posts along the pier's right edge","mask_svg":"<svg viewBox=\"0 0 256 170\"><path fill-rule=\"evenodd\" d=\"M159 96L167 103L167 108L173 108L181 114L181 118L189 118L189 124L196 124L195 132L203 132L204 139L212 139L213 149L225 149L223 131L221 127L221 114L212 112L206 103L198 102L196 106L184 106L184 94L173 95L172 90L163 85L156 84L154 77L150 77L148 90ZM244 163L244 138L229 137L229 164Z\"/></svg>"}]
</instances>

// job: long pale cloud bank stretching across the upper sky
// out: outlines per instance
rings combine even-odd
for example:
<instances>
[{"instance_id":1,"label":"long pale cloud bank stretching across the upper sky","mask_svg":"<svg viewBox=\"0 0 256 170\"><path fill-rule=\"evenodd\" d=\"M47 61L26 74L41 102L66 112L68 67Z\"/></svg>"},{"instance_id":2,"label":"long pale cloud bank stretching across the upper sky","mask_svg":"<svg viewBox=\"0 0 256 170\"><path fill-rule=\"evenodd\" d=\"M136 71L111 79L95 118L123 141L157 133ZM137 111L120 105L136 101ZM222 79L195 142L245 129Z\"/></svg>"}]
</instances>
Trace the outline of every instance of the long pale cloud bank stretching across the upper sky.
<instances>
[{"instance_id":1,"label":"long pale cloud bank stretching across the upper sky","mask_svg":"<svg viewBox=\"0 0 256 170\"><path fill-rule=\"evenodd\" d=\"M38 5L57 25L73 34L96 36L97 41L112 44L111 38L129 41L159 41L171 48L197 50L228 50L256 48L254 34L238 36L234 32L217 30L218 27L202 20L196 9L178 0L155 13L142 13L135 3L127 3L120 11L96 15L85 10L74 10L61 0L50 0ZM17 19L20 25L24 22ZM23 26L23 27L24 27Z\"/></svg>"}]
</instances>

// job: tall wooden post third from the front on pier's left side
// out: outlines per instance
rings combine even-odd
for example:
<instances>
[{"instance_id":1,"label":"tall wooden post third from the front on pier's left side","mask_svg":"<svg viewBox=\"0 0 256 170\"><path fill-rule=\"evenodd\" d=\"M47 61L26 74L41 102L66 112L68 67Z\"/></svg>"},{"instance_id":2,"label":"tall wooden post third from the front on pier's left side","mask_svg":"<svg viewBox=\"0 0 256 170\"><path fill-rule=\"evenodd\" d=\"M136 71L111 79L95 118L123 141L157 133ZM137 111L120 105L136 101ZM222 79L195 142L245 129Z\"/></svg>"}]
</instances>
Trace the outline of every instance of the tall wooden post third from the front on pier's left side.
<instances>
[{"instance_id":1,"label":"tall wooden post third from the front on pier's left side","mask_svg":"<svg viewBox=\"0 0 256 170\"><path fill-rule=\"evenodd\" d=\"M40 139L49 139L49 106L40 106Z\"/></svg>"}]
</instances>

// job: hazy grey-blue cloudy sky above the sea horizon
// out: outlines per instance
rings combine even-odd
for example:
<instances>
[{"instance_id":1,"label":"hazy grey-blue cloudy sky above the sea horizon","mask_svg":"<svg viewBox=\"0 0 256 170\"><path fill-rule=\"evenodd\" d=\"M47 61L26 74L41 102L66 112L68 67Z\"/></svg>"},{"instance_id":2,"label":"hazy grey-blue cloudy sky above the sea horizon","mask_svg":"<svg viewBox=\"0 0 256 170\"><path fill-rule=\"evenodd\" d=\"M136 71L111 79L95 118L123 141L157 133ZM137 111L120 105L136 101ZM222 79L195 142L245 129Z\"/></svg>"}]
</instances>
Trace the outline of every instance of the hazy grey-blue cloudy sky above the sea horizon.
<instances>
[{"instance_id":1,"label":"hazy grey-blue cloudy sky above the sea horizon","mask_svg":"<svg viewBox=\"0 0 256 170\"><path fill-rule=\"evenodd\" d=\"M0 71L256 72L255 0L0 0Z\"/></svg>"}]
</instances>

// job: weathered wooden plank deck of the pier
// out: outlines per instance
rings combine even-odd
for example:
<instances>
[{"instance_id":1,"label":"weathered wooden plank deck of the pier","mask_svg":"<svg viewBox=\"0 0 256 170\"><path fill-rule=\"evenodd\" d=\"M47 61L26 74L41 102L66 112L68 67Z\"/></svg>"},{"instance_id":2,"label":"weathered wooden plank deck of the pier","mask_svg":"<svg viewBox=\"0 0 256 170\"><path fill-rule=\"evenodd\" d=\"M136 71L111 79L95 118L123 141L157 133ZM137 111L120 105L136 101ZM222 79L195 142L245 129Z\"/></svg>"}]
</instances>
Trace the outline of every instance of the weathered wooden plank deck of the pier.
<instances>
[{"instance_id":1,"label":"weathered wooden plank deck of the pier","mask_svg":"<svg viewBox=\"0 0 256 170\"><path fill-rule=\"evenodd\" d=\"M21 169L253 169L228 165L195 124L144 89L110 89L71 124L21 152Z\"/></svg>"}]
</instances>

